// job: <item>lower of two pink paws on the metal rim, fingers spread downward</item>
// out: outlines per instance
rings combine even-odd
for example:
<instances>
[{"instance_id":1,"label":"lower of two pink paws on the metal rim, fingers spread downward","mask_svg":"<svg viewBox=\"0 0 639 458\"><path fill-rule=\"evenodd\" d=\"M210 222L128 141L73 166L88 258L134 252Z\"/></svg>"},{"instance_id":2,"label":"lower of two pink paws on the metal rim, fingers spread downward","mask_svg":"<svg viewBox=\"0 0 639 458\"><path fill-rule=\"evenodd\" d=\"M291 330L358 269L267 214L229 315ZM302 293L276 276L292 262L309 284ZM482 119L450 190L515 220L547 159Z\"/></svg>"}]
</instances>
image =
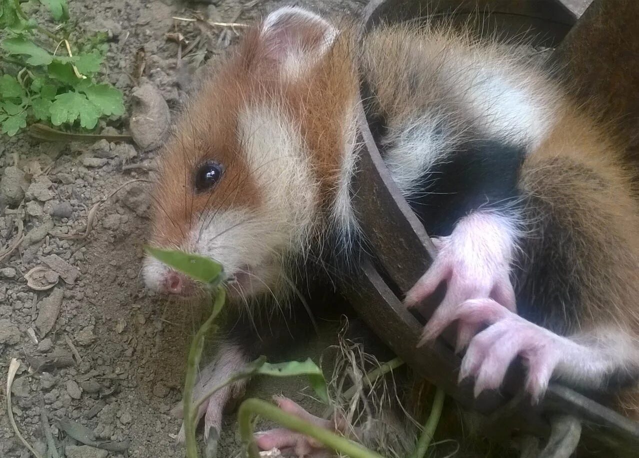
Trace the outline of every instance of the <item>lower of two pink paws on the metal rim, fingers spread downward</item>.
<instances>
[{"instance_id":1,"label":"lower of two pink paws on the metal rim, fingers spread downward","mask_svg":"<svg viewBox=\"0 0 639 458\"><path fill-rule=\"evenodd\" d=\"M491 299L459 304L450 322L458 319L475 326L489 324L470 340L459 369L459 381L475 378L475 397L484 390L498 389L508 367L519 356L528 368L526 390L534 402L539 401L559 361L558 350L569 343ZM433 335L438 335L449 323L440 323L433 329Z\"/></svg>"}]
</instances>

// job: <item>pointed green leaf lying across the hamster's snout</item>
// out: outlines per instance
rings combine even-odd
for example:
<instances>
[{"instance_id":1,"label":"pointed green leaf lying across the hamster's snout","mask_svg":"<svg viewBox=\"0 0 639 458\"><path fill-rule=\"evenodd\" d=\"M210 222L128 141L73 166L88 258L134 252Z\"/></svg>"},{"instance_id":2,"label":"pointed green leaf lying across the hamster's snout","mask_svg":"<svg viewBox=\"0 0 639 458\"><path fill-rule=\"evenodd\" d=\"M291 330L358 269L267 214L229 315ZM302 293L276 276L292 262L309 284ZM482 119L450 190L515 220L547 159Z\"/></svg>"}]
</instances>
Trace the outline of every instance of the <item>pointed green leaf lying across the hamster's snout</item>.
<instances>
[{"instance_id":1,"label":"pointed green leaf lying across the hamster's snout","mask_svg":"<svg viewBox=\"0 0 639 458\"><path fill-rule=\"evenodd\" d=\"M146 253L162 261L169 267L179 270L202 283L215 286L224 279L224 269L219 262L204 256L193 255L170 249L160 249L147 246Z\"/></svg>"}]
</instances>

